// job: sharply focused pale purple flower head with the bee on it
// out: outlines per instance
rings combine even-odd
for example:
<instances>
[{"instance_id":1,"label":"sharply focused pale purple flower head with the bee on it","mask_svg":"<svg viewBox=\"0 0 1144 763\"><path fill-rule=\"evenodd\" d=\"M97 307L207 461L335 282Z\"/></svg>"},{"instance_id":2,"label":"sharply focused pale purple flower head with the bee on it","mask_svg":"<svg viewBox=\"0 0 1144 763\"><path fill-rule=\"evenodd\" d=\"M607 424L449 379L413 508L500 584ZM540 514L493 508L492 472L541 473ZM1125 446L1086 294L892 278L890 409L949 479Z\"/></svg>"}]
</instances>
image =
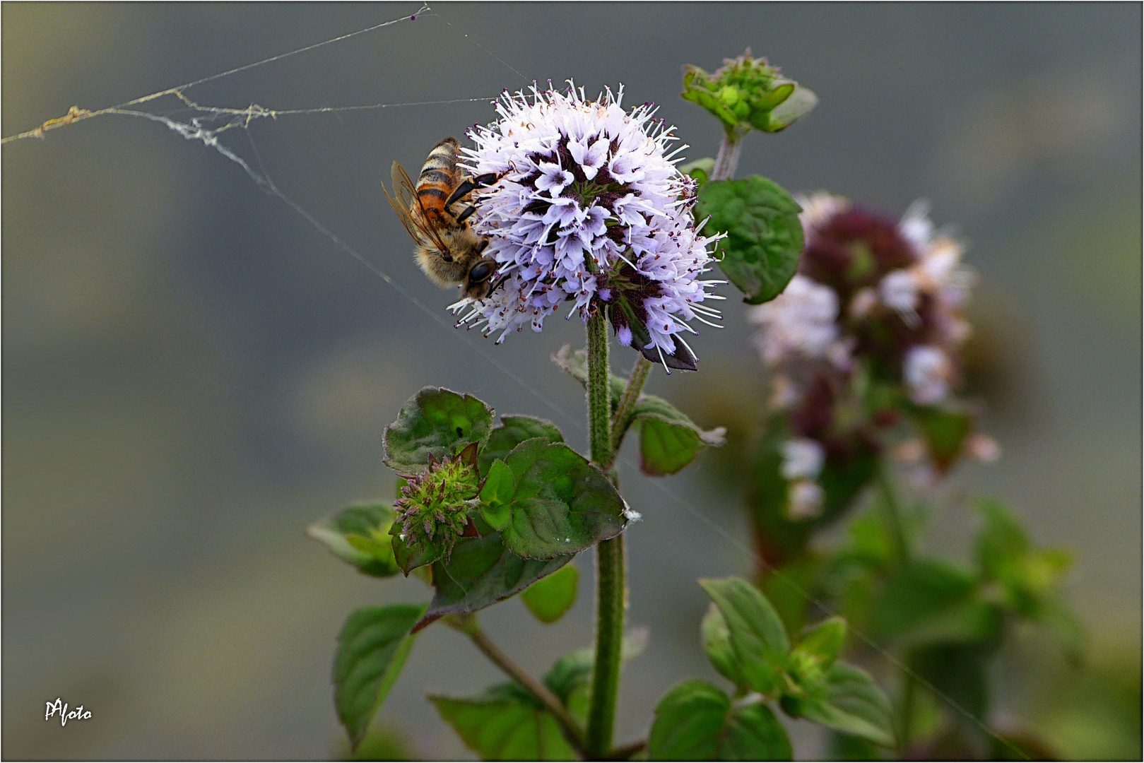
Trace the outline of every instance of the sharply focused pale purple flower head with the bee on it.
<instances>
[{"instance_id":1,"label":"sharply focused pale purple flower head with the bee on it","mask_svg":"<svg viewBox=\"0 0 1144 763\"><path fill-rule=\"evenodd\" d=\"M488 335L531 325L571 302L582 320L606 310L620 343L674 368L694 368L683 332L717 310L705 300L716 280L708 246L691 215L694 183L667 152L672 128L650 104L625 112L622 87L587 101L570 87L531 95L506 92L500 118L468 135L474 175L501 180L479 193L474 230L490 239L500 285L483 300L462 300L461 324ZM710 324L715 325L715 324Z\"/></svg>"}]
</instances>

